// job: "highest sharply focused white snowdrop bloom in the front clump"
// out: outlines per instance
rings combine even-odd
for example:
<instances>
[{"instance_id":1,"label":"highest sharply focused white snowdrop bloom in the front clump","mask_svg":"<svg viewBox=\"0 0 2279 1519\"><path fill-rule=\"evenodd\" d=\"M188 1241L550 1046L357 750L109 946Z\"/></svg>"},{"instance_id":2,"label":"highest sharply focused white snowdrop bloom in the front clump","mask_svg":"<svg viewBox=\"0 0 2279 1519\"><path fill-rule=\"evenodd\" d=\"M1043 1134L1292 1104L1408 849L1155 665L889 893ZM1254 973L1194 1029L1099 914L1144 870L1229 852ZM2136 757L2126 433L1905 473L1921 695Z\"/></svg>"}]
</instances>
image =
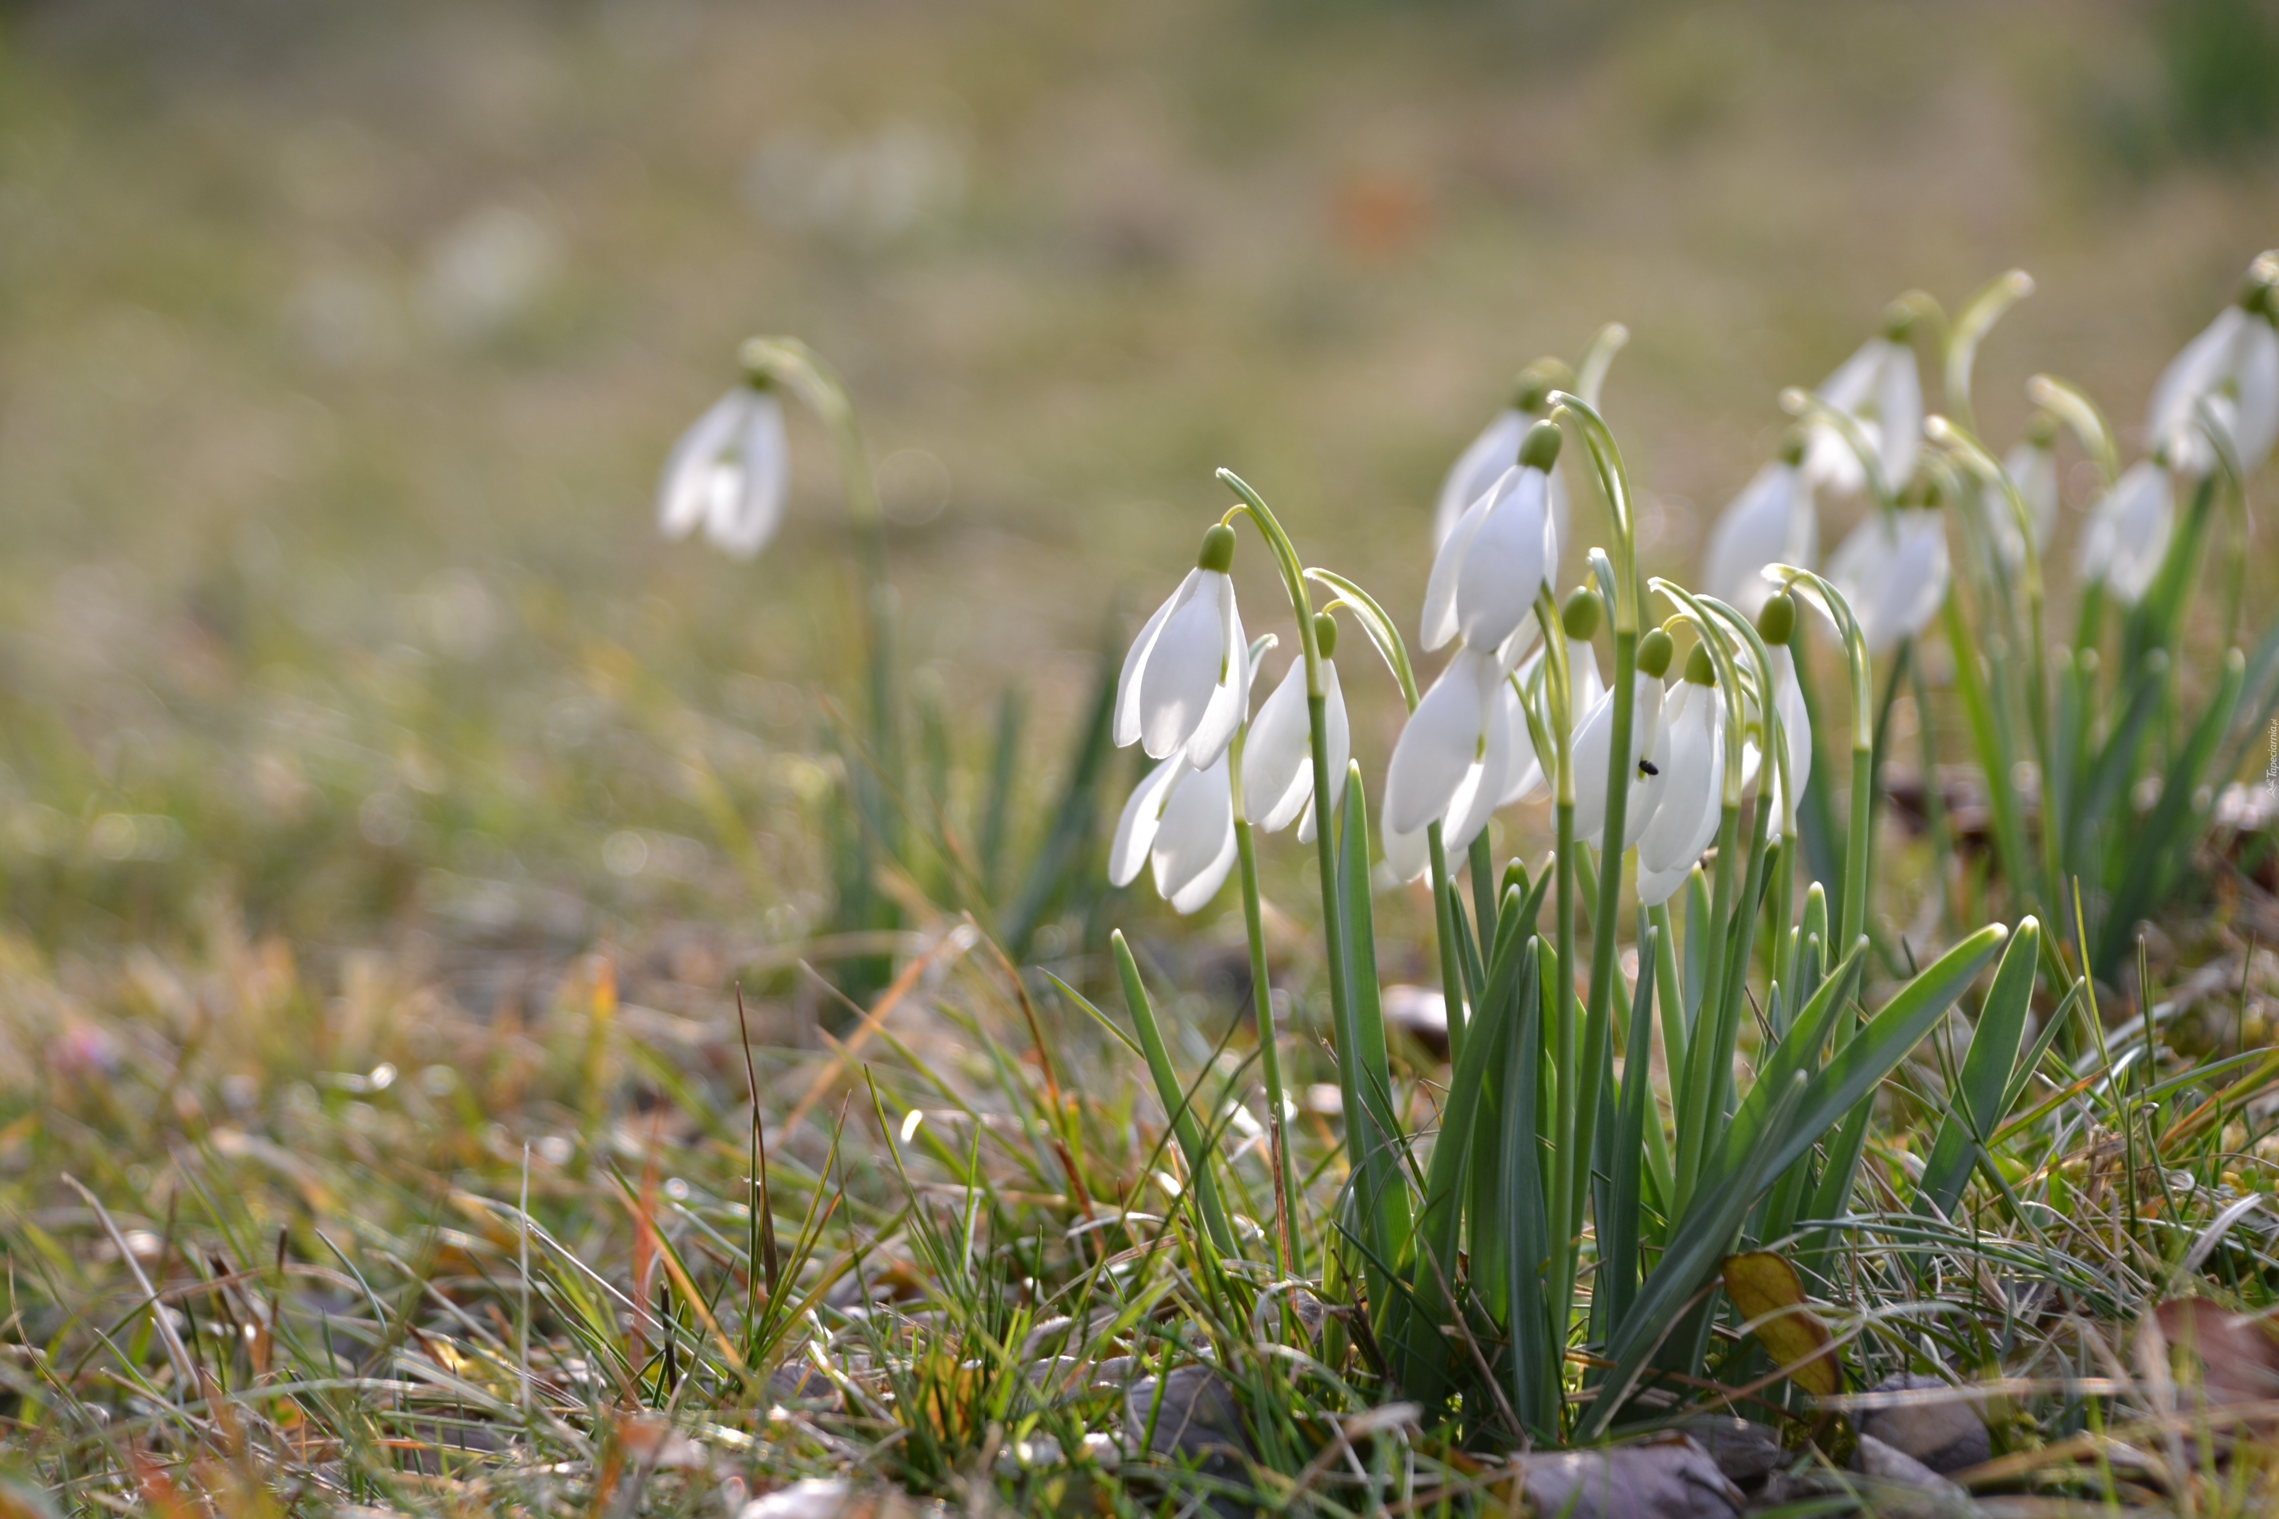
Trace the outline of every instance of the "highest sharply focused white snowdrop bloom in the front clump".
<instances>
[{"instance_id":1,"label":"highest sharply focused white snowdrop bloom in the front clump","mask_svg":"<svg viewBox=\"0 0 2279 1519\"><path fill-rule=\"evenodd\" d=\"M1427 649L1459 633L1468 649L1495 649L1527 619L1536 590L1550 585L1559 560L1550 517L1550 471L1557 462L1559 424L1534 424L1518 462L1449 528L1424 585Z\"/></svg>"}]
</instances>

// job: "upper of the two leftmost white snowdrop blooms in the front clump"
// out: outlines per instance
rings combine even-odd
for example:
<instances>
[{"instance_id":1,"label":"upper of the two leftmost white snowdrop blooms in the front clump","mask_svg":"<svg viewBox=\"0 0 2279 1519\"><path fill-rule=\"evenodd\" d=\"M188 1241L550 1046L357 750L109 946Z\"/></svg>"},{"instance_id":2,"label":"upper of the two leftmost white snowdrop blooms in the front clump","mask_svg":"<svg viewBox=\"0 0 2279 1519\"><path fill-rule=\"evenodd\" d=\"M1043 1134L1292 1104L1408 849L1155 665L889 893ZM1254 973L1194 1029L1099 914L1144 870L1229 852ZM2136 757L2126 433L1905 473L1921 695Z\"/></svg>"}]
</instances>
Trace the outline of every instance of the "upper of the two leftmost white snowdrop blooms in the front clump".
<instances>
[{"instance_id":1,"label":"upper of the two leftmost white snowdrop blooms in the front clump","mask_svg":"<svg viewBox=\"0 0 2279 1519\"><path fill-rule=\"evenodd\" d=\"M1117 683L1114 740L1149 758L1185 752L1196 770L1217 761L1251 699L1249 644L1235 610L1235 531L1203 533L1203 551L1171 599L1140 629Z\"/></svg>"}]
</instances>

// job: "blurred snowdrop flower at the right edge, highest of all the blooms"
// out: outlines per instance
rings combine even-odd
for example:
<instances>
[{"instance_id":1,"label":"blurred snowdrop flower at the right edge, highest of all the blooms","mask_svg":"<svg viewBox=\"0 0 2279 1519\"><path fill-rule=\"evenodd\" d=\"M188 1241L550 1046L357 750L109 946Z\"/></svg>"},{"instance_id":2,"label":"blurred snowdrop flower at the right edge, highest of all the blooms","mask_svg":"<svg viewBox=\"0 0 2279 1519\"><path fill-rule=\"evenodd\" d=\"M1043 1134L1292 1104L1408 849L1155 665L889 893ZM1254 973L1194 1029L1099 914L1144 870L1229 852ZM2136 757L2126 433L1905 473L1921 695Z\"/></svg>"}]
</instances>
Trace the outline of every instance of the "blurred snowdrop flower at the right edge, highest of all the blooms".
<instances>
[{"instance_id":1,"label":"blurred snowdrop flower at the right edge, highest of all the blooms","mask_svg":"<svg viewBox=\"0 0 2279 1519\"><path fill-rule=\"evenodd\" d=\"M2272 255L2256 260L2240 301L2188 342L2151 389L2147 444L2188 476L2215 469L2215 449L2199 426L2202 401L2231 435L2245 474L2279 440L2279 266L2265 276L2268 264Z\"/></svg>"}]
</instances>

